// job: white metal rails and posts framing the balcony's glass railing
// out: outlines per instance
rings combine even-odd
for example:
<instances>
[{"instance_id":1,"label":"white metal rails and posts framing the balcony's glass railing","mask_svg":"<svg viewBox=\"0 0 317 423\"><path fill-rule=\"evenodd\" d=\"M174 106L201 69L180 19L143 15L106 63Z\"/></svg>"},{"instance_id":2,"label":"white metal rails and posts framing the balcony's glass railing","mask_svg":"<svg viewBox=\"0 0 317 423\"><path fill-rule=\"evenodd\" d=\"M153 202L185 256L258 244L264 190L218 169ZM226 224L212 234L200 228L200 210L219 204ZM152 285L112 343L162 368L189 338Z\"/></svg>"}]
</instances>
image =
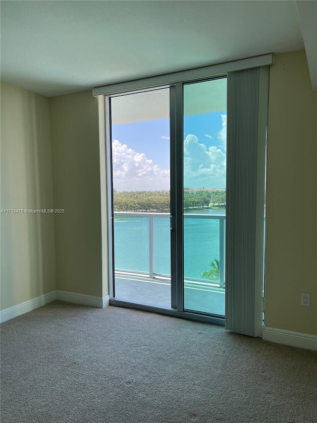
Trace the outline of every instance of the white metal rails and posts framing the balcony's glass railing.
<instances>
[{"instance_id":1,"label":"white metal rails and posts framing the balcony's glass railing","mask_svg":"<svg viewBox=\"0 0 317 423\"><path fill-rule=\"evenodd\" d=\"M148 272L146 271L137 271L137 270L127 270L127 269L119 269L116 267L116 260L115 260L115 272L116 274L129 274L129 275L138 275L144 276L151 279L170 279L170 274L163 274L155 272L155 219L166 219L168 222L170 221L170 214L169 213L138 213L138 212L114 212L114 219L116 218L146 218L148 219L148 242L149 242L149 266ZM221 288L224 287L225 284L225 215L211 215L211 214L192 214L192 213L185 213L184 219L207 219L207 220L217 220L219 222L219 281L209 281L202 278L190 278L185 275L185 279L188 282L200 282L200 283L211 283L215 286L219 286ZM166 222L166 224L167 224ZM212 235L212 234L210 234ZM116 234L114 233L114 238L116 239ZM213 258L217 257L210 257L210 261ZM207 269L202 269L202 271Z\"/></svg>"}]
</instances>

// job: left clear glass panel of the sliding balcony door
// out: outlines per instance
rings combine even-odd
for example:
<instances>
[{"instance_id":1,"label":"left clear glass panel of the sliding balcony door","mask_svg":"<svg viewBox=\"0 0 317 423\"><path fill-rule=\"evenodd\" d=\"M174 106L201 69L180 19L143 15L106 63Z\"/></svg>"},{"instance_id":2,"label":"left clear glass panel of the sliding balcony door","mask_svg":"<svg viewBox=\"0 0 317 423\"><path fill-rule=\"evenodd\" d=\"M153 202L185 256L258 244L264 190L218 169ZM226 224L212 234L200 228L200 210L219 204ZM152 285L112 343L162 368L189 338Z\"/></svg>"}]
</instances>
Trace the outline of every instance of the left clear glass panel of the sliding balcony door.
<instances>
[{"instance_id":1,"label":"left clear glass panel of the sliding balcony door","mask_svg":"<svg viewBox=\"0 0 317 423\"><path fill-rule=\"evenodd\" d=\"M170 307L169 89L110 99L114 297Z\"/></svg>"}]
</instances>

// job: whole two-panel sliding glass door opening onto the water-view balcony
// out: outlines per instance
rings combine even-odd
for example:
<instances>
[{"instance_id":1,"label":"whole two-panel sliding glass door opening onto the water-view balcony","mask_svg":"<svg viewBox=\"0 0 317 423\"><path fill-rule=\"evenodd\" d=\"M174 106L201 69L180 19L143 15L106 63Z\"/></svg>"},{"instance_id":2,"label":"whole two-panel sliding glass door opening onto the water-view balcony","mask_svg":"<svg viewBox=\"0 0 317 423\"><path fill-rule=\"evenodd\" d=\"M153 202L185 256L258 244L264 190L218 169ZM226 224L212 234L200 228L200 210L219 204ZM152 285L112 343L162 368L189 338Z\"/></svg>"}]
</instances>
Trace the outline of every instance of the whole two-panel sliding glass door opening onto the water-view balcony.
<instances>
[{"instance_id":1,"label":"whole two-panel sliding glass door opening onto the water-view balcony","mask_svg":"<svg viewBox=\"0 0 317 423\"><path fill-rule=\"evenodd\" d=\"M223 317L226 78L116 94L109 117L113 298Z\"/></svg>"}]
</instances>

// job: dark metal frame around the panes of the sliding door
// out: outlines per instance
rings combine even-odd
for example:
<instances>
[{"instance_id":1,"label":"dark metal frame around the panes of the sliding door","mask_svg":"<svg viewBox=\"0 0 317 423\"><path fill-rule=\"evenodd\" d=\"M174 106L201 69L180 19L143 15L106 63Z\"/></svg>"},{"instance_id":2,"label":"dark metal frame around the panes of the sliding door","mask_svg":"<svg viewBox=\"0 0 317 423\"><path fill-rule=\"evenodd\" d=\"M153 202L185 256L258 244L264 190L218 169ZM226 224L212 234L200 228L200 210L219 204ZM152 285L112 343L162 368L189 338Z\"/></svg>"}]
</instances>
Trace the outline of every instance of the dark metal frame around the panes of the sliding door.
<instances>
[{"instance_id":1,"label":"dark metal frame around the panes of the sliding door","mask_svg":"<svg viewBox=\"0 0 317 423\"><path fill-rule=\"evenodd\" d=\"M191 79L190 83L202 82L225 77L224 74ZM188 81L181 81L166 86L156 85L133 91L118 92L105 96L106 111L106 167L108 181L108 246L109 246L109 296L110 305L139 308L162 314L210 322L224 326L224 317L202 313L195 310L184 311L184 210L183 210L183 86ZM114 277L114 228L113 228L113 178L112 178L112 134L111 134L111 98L140 92L156 91L169 88L169 121L170 121L170 246L171 246L171 306L158 307L115 298Z\"/></svg>"}]
</instances>

